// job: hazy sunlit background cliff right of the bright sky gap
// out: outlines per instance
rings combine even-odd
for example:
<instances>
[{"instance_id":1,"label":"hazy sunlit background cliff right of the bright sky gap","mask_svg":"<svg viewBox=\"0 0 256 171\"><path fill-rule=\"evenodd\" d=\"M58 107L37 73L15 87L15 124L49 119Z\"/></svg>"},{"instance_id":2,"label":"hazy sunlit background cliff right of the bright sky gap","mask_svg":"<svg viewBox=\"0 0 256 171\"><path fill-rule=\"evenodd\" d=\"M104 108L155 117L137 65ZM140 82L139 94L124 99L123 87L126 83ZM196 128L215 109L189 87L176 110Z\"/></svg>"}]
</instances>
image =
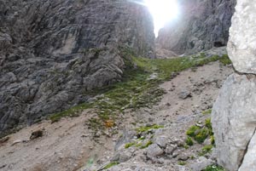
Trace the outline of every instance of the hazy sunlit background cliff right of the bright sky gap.
<instances>
[{"instance_id":1,"label":"hazy sunlit background cliff right of the bright sky gap","mask_svg":"<svg viewBox=\"0 0 256 171\"><path fill-rule=\"evenodd\" d=\"M160 48L194 54L225 46L236 0L179 0L180 15L159 32Z\"/></svg>"}]
</instances>

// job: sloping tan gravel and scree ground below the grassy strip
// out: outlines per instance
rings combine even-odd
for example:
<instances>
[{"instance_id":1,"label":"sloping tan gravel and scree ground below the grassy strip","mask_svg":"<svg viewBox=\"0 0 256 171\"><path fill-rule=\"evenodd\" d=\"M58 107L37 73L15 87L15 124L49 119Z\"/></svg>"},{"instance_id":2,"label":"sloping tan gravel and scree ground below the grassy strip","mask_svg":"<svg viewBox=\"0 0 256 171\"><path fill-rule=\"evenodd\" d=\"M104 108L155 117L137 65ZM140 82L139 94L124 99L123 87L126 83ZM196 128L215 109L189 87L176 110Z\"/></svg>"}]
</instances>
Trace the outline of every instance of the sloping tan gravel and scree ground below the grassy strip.
<instances>
[{"instance_id":1,"label":"sloping tan gravel and scree ground below the grassy strip","mask_svg":"<svg viewBox=\"0 0 256 171\"><path fill-rule=\"evenodd\" d=\"M185 60L180 61L183 66ZM90 119L96 118L96 111L84 110L80 117L62 118L57 123L44 121L9 135L0 145L0 169L176 171L216 164L214 155L208 153L211 149L203 151L204 146L211 145L210 137L203 144L193 140L194 145L188 146L186 131L195 124L205 127L218 90L233 70L218 61L197 64L169 75L171 80L160 84L166 94L156 105L119 113L116 126L95 132ZM147 80L158 77L161 75L154 73ZM30 139L37 130L42 130L43 136Z\"/></svg>"}]
</instances>

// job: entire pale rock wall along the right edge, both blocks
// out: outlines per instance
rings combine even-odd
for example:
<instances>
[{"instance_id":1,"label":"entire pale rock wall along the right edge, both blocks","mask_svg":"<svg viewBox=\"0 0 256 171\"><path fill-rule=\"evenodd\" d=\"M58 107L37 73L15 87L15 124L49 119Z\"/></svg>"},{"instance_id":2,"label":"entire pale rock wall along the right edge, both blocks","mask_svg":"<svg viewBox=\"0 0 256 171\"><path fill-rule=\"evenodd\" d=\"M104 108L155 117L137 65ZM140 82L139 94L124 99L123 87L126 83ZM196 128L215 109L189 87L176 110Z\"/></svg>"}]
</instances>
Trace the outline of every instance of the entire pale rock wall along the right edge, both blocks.
<instances>
[{"instance_id":1,"label":"entire pale rock wall along the right edge, both blocks","mask_svg":"<svg viewBox=\"0 0 256 171\"><path fill-rule=\"evenodd\" d=\"M228 52L240 73L226 80L212 111L218 162L229 170L256 170L255 11L252 1L237 1Z\"/></svg>"}]
</instances>

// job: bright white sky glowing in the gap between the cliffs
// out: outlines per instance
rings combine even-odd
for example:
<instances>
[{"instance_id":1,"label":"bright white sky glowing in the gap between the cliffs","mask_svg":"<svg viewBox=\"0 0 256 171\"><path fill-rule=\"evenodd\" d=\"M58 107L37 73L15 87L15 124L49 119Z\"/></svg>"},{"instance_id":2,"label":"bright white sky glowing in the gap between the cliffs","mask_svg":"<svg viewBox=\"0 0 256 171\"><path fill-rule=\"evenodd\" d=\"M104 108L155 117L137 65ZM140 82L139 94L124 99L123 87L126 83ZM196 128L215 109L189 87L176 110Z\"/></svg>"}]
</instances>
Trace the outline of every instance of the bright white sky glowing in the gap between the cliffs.
<instances>
[{"instance_id":1,"label":"bright white sky glowing in the gap between the cliffs","mask_svg":"<svg viewBox=\"0 0 256 171\"><path fill-rule=\"evenodd\" d=\"M177 0L144 0L144 3L153 15L154 34L157 37L158 31L163 28L166 23L177 18Z\"/></svg>"}]
</instances>

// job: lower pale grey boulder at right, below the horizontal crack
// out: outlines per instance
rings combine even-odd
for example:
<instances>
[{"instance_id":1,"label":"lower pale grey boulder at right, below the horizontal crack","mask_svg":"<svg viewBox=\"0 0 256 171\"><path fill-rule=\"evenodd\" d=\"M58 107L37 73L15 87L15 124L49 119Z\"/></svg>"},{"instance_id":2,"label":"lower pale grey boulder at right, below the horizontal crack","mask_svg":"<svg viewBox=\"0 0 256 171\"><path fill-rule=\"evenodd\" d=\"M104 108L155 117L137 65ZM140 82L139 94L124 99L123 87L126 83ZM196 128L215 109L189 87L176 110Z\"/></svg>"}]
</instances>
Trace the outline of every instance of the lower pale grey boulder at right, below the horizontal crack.
<instances>
[{"instance_id":1,"label":"lower pale grey boulder at right, below the horizontal crack","mask_svg":"<svg viewBox=\"0 0 256 171\"><path fill-rule=\"evenodd\" d=\"M244 156L252 155L250 149L255 148L251 140L256 128L255 89L256 77L233 74L224 83L213 106L212 128L218 163L229 170L237 170L242 162L247 163L248 157ZM252 160L255 164L255 157L248 162Z\"/></svg>"}]
</instances>

